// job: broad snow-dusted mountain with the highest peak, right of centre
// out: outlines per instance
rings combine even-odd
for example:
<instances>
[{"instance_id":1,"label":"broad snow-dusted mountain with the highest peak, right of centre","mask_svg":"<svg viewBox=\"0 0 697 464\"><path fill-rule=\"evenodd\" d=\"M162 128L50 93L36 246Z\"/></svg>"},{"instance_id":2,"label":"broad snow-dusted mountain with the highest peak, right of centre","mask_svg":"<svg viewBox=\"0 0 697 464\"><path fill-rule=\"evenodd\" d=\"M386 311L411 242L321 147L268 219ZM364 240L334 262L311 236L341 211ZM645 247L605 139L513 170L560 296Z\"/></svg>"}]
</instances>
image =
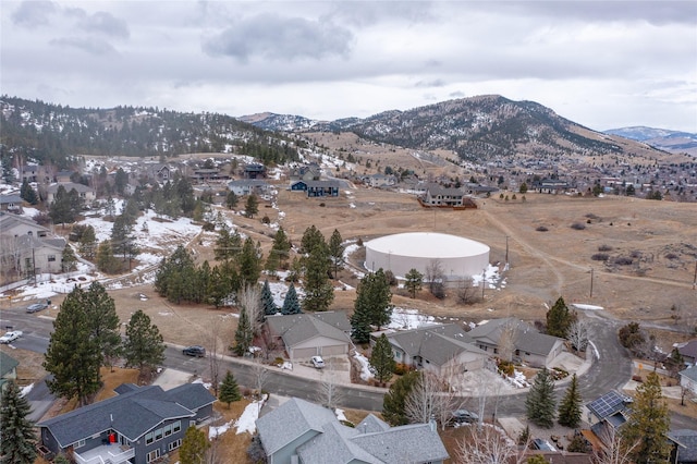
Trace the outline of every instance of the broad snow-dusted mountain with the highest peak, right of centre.
<instances>
[{"instance_id":1,"label":"broad snow-dusted mountain with the highest peak, right of centre","mask_svg":"<svg viewBox=\"0 0 697 464\"><path fill-rule=\"evenodd\" d=\"M273 114L246 121L266 129L280 129L274 125L276 121L286 123L292 119ZM284 130L348 131L405 148L452 150L465 160L655 151L644 144L592 131L534 101L514 101L499 95L449 100L407 111L384 111L366 119L347 118L304 126L291 124Z\"/></svg>"}]
</instances>

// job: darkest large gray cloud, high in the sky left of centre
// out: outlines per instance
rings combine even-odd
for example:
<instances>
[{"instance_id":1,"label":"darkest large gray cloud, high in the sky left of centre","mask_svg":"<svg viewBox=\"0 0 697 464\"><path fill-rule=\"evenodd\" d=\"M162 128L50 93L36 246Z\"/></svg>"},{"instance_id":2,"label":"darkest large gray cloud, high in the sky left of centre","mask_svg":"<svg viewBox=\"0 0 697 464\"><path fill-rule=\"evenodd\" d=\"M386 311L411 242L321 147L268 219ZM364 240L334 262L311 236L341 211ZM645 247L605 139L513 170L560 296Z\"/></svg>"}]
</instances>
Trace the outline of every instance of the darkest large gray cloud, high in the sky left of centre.
<instances>
[{"instance_id":1,"label":"darkest large gray cloud, high in the sky left of centre","mask_svg":"<svg viewBox=\"0 0 697 464\"><path fill-rule=\"evenodd\" d=\"M346 57L353 35L328 22L259 14L208 38L203 49L211 56L227 56L246 62L264 59L293 61L297 58Z\"/></svg>"}]
</instances>

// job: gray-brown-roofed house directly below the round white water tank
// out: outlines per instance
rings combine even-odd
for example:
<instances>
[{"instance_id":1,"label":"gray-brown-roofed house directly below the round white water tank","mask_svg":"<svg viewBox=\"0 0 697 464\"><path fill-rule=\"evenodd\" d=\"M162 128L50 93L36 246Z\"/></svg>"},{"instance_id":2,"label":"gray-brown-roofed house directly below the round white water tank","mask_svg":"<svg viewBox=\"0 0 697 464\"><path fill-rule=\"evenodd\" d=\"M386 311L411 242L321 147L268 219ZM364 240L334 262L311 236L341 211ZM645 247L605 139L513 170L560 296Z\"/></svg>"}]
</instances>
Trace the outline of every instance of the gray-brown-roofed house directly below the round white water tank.
<instances>
[{"instance_id":1,"label":"gray-brown-roofed house directly below the round white water tank","mask_svg":"<svg viewBox=\"0 0 697 464\"><path fill-rule=\"evenodd\" d=\"M382 332L371 334L371 344ZM439 376L477 370L489 354L473 344L473 339L456 323L428 326L414 330L384 332L394 361ZM453 369L457 371L454 373Z\"/></svg>"}]
</instances>

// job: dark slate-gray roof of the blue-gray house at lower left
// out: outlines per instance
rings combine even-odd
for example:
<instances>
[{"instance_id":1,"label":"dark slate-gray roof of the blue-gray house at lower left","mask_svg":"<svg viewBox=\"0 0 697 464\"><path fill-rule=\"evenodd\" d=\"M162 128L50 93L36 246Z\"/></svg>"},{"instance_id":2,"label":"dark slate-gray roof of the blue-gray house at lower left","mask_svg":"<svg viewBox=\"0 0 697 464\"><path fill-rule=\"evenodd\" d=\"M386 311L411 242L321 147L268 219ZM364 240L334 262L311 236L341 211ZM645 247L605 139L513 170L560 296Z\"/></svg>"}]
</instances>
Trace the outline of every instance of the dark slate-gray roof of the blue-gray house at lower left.
<instances>
[{"instance_id":1,"label":"dark slate-gray roof of the blue-gray house at lower left","mask_svg":"<svg viewBox=\"0 0 697 464\"><path fill-rule=\"evenodd\" d=\"M163 420L194 417L195 410L216 401L201 383L191 383L189 388L189 407L178 402L181 400L182 390L171 393L172 390L163 391L157 386L136 389L126 386L119 388L125 392L118 396L61 414L37 425L48 428L61 448L108 429L114 429L129 440L135 441Z\"/></svg>"}]
</instances>

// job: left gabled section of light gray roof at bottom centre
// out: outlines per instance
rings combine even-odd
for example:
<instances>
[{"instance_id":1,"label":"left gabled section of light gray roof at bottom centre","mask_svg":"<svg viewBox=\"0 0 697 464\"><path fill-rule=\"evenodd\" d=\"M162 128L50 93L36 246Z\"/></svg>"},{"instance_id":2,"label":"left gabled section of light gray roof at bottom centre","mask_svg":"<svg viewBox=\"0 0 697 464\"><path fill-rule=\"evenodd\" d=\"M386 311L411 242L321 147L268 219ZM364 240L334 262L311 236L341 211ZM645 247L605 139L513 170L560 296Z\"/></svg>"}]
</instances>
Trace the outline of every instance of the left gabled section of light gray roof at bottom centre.
<instances>
[{"instance_id":1,"label":"left gabled section of light gray roof at bottom centre","mask_svg":"<svg viewBox=\"0 0 697 464\"><path fill-rule=\"evenodd\" d=\"M307 431L321 434L322 426L335 422L330 410L298 398L291 398L256 422L267 455L273 454Z\"/></svg>"}]
</instances>

